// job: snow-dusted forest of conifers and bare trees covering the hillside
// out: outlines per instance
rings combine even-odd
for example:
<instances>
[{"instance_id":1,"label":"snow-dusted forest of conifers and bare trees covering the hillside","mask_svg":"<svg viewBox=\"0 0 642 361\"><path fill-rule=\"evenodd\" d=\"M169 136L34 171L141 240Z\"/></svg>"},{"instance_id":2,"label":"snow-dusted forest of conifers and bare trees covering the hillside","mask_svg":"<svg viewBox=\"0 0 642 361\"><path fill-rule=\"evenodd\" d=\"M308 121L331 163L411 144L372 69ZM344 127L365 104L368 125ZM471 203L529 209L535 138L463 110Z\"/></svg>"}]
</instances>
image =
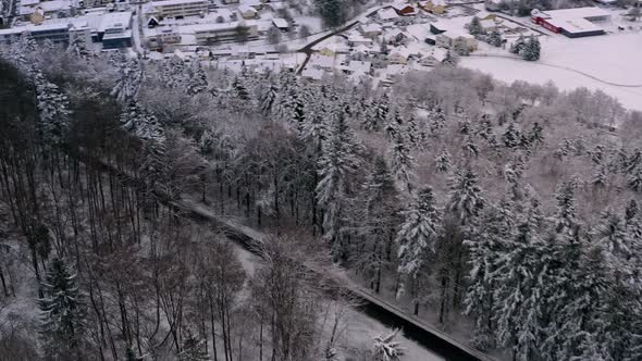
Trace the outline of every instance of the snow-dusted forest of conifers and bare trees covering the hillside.
<instances>
[{"instance_id":1,"label":"snow-dusted forest of conifers and bare trees covering the hillside","mask_svg":"<svg viewBox=\"0 0 642 361\"><path fill-rule=\"evenodd\" d=\"M642 359L642 114L601 91L0 54L11 360L404 360L310 262L506 360ZM180 199L272 234L255 272Z\"/></svg>"}]
</instances>

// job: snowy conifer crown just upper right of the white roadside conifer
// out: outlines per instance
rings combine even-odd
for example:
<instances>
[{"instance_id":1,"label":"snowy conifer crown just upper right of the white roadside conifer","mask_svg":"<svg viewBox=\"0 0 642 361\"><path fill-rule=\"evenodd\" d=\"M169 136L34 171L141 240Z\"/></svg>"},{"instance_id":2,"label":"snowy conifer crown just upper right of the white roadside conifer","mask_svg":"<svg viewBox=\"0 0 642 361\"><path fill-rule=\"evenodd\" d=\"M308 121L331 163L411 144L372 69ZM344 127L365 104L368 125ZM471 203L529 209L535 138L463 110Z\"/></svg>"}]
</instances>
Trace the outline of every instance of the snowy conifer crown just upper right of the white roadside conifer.
<instances>
[{"instance_id":1,"label":"snowy conifer crown just upper right of the white roadside conifer","mask_svg":"<svg viewBox=\"0 0 642 361\"><path fill-rule=\"evenodd\" d=\"M479 214L485 200L478 185L477 174L469 167L457 170L449 179L448 210L466 224Z\"/></svg>"}]
</instances>

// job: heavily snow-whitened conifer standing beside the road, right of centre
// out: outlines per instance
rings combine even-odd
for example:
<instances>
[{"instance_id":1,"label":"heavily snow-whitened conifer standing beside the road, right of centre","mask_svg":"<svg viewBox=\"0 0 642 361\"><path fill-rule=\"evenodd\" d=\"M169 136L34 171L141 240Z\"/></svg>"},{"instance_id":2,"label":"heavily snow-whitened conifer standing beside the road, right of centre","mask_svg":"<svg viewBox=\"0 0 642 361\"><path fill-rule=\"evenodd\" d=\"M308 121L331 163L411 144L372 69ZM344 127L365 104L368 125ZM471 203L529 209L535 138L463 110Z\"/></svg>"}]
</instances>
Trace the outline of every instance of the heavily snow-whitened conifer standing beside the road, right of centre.
<instances>
[{"instance_id":1,"label":"heavily snow-whitened conifer standing beside the road, right of centre","mask_svg":"<svg viewBox=\"0 0 642 361\"><path fill-rule=\"evenodd\" d=\"M406 278L417 277L423 262L429 260L430 252L434 252L435 244L443 234L442 212L436 207L433 190L429 186L421 188L413 196L412 202L403 215L405 220L395 240L399 245L397 272L404 276L398 294L404 291ZM415 314L418 312L418 304L415 301Z\"/></svg>"}]
</instances>

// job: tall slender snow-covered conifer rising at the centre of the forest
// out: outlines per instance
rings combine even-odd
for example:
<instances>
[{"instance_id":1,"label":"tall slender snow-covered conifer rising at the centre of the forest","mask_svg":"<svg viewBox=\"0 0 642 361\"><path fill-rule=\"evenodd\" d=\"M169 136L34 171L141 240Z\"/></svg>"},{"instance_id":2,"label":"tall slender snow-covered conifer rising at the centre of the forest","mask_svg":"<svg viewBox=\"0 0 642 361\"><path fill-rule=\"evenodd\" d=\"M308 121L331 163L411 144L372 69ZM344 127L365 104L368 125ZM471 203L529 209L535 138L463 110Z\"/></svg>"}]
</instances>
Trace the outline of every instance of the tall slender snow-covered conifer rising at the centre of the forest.
<instances>
[{"instance_id":1,"label":"tall slender snow-covered conifer rising at the centre of the forest","mask_svg":"<svg viewBox=\"0 0 642 361\"><path fill-rule=\"evenodd\" d=\"M341 219L348 192L348 176L361 164L360 145L343 114L335 114L329 127L328 138L322 144L319 160L321 180L317 185L318 203L323 209L324 238L333 246L338 246ZM342 250L334 249L336 253Z\"/></svg>"}]
</instances>

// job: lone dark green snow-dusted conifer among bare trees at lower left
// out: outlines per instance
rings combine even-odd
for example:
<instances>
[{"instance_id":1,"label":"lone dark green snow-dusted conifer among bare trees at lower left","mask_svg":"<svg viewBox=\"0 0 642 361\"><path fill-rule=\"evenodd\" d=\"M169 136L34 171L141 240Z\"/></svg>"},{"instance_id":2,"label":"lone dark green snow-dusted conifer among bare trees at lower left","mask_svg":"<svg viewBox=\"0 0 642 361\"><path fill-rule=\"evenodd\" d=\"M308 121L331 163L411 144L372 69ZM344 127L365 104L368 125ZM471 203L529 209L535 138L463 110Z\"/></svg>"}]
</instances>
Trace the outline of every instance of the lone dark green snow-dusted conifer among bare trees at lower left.
<instances>
[{"instance_id":1,"label":"lone dark green snow-dusted conifer among bare trees at lower left","mask_svg":"<svg viewBox=\"0 0 642 361\"><path fill-rule=\"evenodd\" d=\"M85 303L76 275L64 261L54 259L40 286L44 295L38 300L42 316L40 335L47 356L79 360L85 349Z\"/></svg>"}]
</instances>

